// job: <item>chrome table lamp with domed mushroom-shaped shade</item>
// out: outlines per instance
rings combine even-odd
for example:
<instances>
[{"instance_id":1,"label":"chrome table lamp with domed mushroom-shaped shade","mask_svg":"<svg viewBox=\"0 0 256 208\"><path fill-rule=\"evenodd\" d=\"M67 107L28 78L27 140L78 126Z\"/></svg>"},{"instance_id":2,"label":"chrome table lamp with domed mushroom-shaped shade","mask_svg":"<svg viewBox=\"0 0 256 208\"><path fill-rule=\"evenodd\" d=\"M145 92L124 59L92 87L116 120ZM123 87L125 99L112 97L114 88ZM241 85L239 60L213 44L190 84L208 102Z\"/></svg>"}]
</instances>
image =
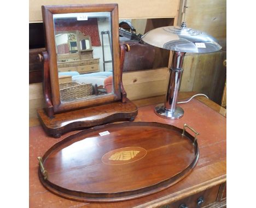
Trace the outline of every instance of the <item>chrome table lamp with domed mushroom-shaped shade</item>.
<instances>
[{"instance_id":1,"label":"chrome table lamp with domed mushroom-shaped shade","mask_svg":"<svg viewBox=\"0 0 256 208\"><path fill-rule=\"evenodd\" d=\"M210 53L219 51L222 46L211 35L187 28L185 22L182 22L181 27L167 26L150 30L142 36L142 40L173 52L165 103L156 106L155 113L165 119L182 118L184 111L176 104L185 53Z\"/></svg>"}]
</instances>

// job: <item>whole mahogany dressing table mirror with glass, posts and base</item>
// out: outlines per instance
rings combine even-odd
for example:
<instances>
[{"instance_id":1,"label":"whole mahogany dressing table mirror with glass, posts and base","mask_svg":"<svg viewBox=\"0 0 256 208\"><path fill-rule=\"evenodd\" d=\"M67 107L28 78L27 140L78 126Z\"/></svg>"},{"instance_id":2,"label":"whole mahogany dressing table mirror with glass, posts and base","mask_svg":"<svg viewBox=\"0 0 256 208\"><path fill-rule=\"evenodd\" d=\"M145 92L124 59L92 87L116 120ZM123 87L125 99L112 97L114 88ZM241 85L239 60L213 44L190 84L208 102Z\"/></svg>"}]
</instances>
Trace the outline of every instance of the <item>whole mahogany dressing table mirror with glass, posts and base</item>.
<instances>
[{"instance_id":1,"label":"whole mahogany dressing table mirror with glass, posts and base","mask_svg":"<svg viewBox=\"0 0 256 208\"><path fill-rule=\"evenodd\" d=\"M46 51L43 90L46 107L38 110L46 133L68 131L137 115L122 84L128 46L119 45L118 5L42 6Z\"/></svg>"}]
</instances>

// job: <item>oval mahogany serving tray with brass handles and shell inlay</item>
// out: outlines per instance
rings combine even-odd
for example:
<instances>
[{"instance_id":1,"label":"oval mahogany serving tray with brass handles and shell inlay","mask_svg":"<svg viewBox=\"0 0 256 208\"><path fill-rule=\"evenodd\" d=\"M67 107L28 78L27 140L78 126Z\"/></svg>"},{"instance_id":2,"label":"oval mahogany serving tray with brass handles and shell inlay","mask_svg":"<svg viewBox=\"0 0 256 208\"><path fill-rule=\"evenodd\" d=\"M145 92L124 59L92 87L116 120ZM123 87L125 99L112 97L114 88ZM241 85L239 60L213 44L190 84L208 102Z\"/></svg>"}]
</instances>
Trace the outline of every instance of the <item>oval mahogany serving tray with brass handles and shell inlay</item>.
<instances>
[{"instance_id":1,"label":"oval mahogany serving tray with brass handles and shell inlay","mask_svg":"<svg viewBox=\"0 0 256 208\"><path fill-rule=\"evenodd\" d=\"M39 158L38 173L43 185L61 197L121 201L172 186L198 158L196 139L182 129L125 122L96 126L56 143Z\"/></svg>"}]
</instances>

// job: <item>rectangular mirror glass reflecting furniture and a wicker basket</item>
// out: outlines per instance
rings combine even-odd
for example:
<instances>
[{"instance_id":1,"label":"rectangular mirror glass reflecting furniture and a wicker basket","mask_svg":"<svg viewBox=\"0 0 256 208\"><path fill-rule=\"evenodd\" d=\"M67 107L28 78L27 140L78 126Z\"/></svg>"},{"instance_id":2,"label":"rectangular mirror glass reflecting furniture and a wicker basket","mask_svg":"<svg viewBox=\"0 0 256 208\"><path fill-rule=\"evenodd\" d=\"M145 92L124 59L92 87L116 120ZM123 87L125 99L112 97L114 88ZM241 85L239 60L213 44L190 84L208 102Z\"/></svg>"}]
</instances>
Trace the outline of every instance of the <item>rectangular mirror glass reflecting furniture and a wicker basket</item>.
<instances>
[{"instance_id":1,"label":"rectangular mirror glass reflecting furniture and a wicker basket","mask_svg":"<svg viewBox=\"0 0 256 208\"><path fill-rule=\"evenodd\" d=\"M113 93L109 12L54 14L61 102Z\"/></svg>"}]
</instances>

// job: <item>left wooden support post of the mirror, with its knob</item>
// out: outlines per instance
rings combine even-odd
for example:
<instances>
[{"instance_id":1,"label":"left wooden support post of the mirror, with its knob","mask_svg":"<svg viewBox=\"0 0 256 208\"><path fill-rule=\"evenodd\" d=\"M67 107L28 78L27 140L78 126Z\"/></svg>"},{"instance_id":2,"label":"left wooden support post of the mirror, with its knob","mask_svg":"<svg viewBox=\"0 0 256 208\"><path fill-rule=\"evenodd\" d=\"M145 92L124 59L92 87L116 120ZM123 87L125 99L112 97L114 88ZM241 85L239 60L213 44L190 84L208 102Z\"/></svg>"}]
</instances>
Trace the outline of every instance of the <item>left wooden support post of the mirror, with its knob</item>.
<instances>
[{"instance_id":1,"label":"left wooden support post of the mirror, with its knob","mask_svg":"<svg viewBox=\"0 0 256 208\"><path fill-rule=\"evenodd\" d=\"M50 70L49 70L49 56L48 52L43 51L43 56L38 54L40 62L44 62L44 80L43 80L43 92L44 92L44 99L46 102L46 113L48 117L53 118L54 115L54 108L53 103L51 102L51 83L50 83Z\"/></svg>"}]
</instances>

